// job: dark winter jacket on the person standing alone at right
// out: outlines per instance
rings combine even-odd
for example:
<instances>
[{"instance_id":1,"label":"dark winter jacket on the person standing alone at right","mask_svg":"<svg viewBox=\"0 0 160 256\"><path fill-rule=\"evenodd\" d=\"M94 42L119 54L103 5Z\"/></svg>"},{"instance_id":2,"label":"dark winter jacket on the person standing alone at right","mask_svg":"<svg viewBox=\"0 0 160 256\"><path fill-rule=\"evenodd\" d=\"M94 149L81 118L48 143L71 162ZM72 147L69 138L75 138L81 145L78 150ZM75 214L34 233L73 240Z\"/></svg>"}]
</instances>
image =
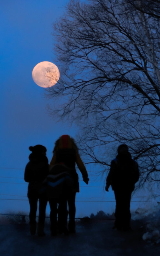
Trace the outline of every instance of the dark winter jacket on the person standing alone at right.
<instances>
[{"instance_id":1,"label":"dark winter jacket on the person standing alone at right","mask_svg":"<svg viewBox=\"0 0 160 256\"><path fill-rule=\"evenodd\" d=\"M106 179L106 184L112 186L114 191L133 191L139 179L138 164L131 154L118 154L111 162L111 168Z\"/></svg>"}]
</instances>

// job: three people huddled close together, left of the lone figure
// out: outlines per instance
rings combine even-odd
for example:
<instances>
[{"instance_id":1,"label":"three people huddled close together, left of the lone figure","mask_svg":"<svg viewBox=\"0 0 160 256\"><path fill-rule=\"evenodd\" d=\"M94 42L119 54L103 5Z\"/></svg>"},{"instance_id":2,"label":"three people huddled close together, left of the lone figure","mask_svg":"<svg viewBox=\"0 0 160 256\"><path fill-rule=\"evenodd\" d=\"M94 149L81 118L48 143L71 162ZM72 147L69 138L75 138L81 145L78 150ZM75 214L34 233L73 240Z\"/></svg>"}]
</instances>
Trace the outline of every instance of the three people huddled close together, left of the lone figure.
<instances>
[{"instance_id":1,"label":"three people huddled close together, left of the lone figure","mask_svg":"<svg viewBox=\"0 0 160 256\"><path fill-rule=\"evenodd\" d=\"M79 192L76 165L82 173L83 180L88 184L89 178L84 163L78 153L74 139L69 135L62 135L56 142L53 157L48 164L46 147L36 145L29 147L32 153L25 167L25 181L28 185L28 199L30 204L30 233L44 236L44 222L47 201L50 205L51 235L59 233L75 233L75 197ZM39 200L38 227L36 223L37 202ZM67 209L68 204L68 209ZM58 222L57 222L58 214ZM69 223L67 217L69 214Z\"/></svg>"}]
</instances>

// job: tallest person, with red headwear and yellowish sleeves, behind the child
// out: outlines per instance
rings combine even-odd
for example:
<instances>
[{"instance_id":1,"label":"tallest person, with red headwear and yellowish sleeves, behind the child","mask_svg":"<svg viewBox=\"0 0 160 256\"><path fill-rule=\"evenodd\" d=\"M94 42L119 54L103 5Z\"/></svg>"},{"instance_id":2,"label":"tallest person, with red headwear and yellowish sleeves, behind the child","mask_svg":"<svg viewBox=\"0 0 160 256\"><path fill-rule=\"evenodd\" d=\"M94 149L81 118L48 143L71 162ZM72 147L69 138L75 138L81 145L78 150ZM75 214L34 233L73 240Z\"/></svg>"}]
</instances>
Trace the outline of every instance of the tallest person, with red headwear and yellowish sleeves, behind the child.
<instances>
[{"instance_id":1,"label":"tallest person, with red headwear and yellowish sleeves, behind the child","mask_svg":"<svg viewBox=\"0 0 160 256\"><path fill-rule=\"evenodd\" d=\"M79 192L79 182L78 182L78 175L76 173L76 164L79 170L82 173L83 180L86 184L88 184L89 178L82 162L79 154L78 148L74 142L74 139L70 138L69 135L62 135L56 142L55 147L53 150L53 157L50 162L50 167L55 165L56 163L63 163L66 167L69 168L68 172L71 175L74 184L71 191L67 194L67 202L69 207L69 232L75 233L75 214L76 214L76 207L75 207L75 197L76 192Z\"/></svg>"}]
</instances>

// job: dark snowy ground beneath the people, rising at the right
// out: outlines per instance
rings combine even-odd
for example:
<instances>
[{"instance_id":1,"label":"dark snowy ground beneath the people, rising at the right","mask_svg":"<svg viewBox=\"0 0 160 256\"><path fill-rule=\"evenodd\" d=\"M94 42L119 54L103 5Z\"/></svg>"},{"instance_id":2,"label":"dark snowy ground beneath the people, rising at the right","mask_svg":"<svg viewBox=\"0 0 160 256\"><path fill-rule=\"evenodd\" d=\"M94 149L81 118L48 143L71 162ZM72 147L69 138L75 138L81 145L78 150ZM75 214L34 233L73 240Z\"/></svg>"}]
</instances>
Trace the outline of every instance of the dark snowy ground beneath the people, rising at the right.
<instances>
[{"instance_id":1,"label":"dark snowy ground beneath the people, rising at the right","mask_svg":"<svg viewBox=\"0 0 160 256\"><path fill-rule=\"evenodd\" d=\"M81 220L76 234L50 236L49 220L45 237L31 236L28 223L1 217L0 255L54 256L142 256L160 254L160 204L154 201L132 213L132 231L112 229L114 220Z\"/></svg>"}]
</instances>

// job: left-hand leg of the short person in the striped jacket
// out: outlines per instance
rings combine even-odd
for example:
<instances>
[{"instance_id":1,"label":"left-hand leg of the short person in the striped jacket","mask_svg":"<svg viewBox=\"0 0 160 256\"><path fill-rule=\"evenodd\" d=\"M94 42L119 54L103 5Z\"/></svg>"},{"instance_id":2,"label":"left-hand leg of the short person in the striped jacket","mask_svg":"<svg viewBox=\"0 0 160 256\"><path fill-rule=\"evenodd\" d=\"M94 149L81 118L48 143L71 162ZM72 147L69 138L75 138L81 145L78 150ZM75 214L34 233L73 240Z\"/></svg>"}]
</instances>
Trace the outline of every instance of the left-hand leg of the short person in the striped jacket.
<instances>
[{"instance_id":1,"label":"left-hand leg of the short person in the striped jacket","mask_svg":"<svg viewBox=\"0 0 160 256\"><path fill-rule=\"evenodd\" d=\"M50 230L51 230L51 236L55 236L57 234L57 199L50 198L49 200L50 205Z\"/></svg>"}]
</instances>

